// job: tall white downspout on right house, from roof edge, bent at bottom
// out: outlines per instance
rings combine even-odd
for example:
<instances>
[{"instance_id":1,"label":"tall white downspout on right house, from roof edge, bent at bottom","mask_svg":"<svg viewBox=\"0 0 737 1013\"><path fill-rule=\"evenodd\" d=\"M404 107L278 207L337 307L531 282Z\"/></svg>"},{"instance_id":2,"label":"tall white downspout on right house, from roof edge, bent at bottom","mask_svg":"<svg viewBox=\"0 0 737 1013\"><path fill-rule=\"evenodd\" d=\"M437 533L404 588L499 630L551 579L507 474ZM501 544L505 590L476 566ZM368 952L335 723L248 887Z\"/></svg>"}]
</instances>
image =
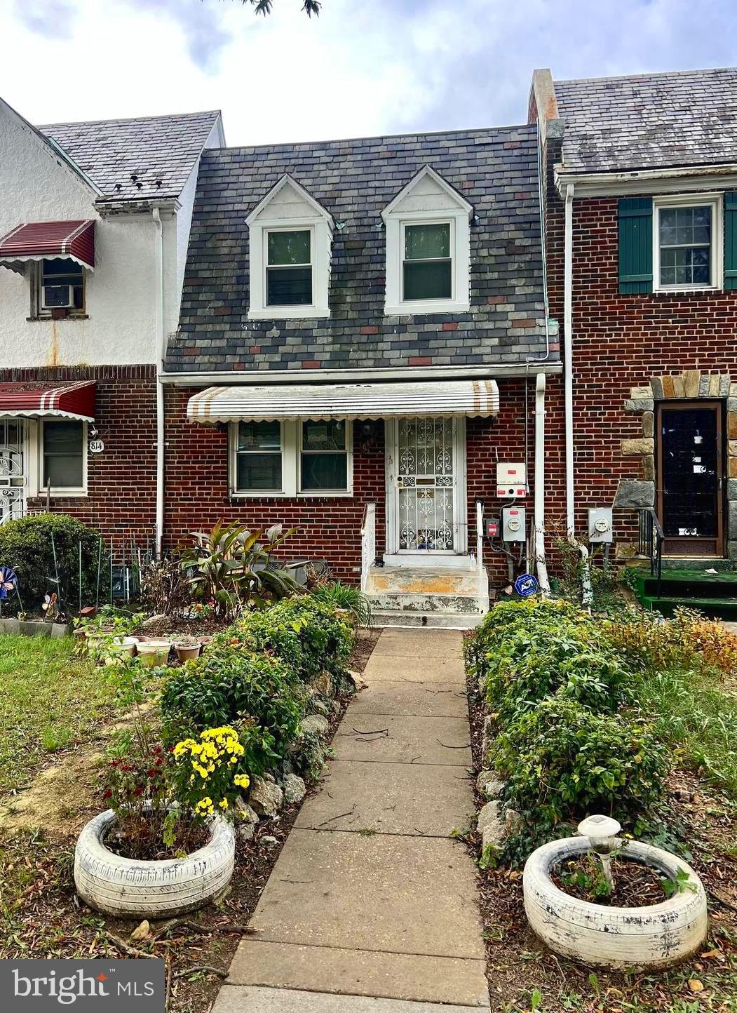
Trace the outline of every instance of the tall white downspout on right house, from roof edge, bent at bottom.
<instances>
[{"instance_id":1,"label":"tall white downspout on right house, from roof edge, bent at bottom","mask_svg":"<svg viewBox=\"0 0 737 1013\"><path fill-rule=\"evenodd\" d=\"M581 554L581 589L584 605L593 602L588 549L576 541L576 505L573 486L573 183L566 186L563 243L563 340L565 353L564 415L566 441L566 534Z\"/></svg>"}]
</instances>

